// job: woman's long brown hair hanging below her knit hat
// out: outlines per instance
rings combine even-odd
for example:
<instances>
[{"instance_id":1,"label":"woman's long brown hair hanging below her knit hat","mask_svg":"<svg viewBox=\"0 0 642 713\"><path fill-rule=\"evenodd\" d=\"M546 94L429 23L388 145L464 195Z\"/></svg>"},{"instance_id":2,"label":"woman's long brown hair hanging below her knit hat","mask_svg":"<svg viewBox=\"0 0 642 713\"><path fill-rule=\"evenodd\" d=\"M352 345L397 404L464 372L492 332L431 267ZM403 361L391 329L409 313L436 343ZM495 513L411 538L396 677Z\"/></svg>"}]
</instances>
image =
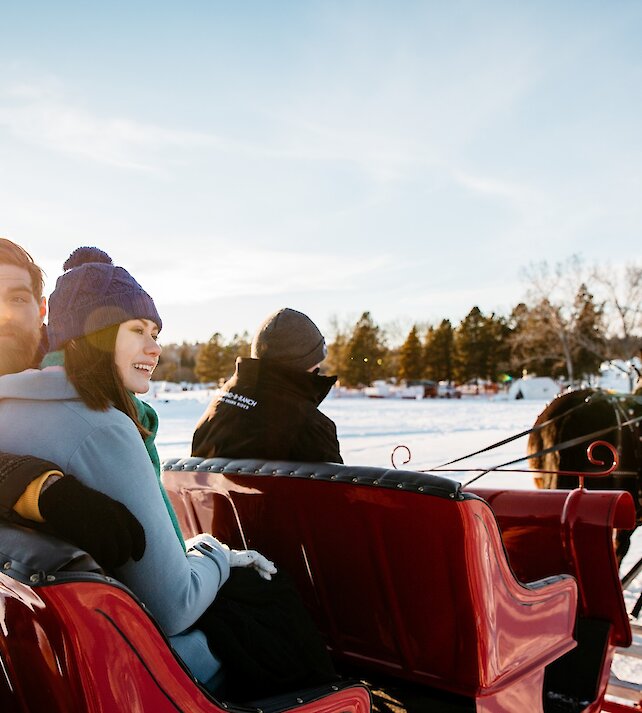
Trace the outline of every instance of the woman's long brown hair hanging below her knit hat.
<instances>
[{"instance_id":1,"label":"woman's long brown hair hanging below her knit hat","mask_svg":"<svg viewBox=\"0 0 642 713\"><path fill-rule=\"evenodd\" d=\"M114 361L119 326L115 324L67 342L64 347L65 371L90 409L106 411L110 406L117 408L131 418L145 439L150 432L140 422L136 405Z\"/></svg>"}]
</instances>

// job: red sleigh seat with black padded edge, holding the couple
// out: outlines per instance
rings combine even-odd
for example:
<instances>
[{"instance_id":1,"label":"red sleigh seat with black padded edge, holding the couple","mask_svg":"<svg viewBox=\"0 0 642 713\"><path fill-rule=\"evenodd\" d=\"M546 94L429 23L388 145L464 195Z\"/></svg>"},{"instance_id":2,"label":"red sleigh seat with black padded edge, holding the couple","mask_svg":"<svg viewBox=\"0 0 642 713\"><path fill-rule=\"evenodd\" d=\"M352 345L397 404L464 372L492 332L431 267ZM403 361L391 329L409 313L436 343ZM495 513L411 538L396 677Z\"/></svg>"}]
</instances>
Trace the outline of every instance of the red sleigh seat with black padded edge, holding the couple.
<instances>
[{"instance_id":1,"label":"red sleigh seat with black padded edge, holding the couple","mask_svg":"<svg viewBox=\"0 0 642 713\"><path fill-rule=\"evenodd\" d=\"M130 590L84 552L0 524L0 710L3 713L225 713L192 677ZM293 692L250 713L368 713L352 683Z\"/></svg>"}]
</instances>

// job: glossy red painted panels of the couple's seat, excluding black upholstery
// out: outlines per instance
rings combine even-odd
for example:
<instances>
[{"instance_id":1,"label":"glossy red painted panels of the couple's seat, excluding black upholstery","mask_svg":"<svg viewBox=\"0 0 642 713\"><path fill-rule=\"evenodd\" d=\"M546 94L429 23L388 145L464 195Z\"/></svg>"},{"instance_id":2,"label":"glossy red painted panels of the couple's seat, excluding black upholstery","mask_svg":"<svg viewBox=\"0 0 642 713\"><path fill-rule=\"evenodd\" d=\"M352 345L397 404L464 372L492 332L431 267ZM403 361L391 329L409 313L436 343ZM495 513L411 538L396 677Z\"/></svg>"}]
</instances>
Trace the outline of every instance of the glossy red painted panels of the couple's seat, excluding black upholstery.
<instances>
[{"instance_id":1,"label":"glossy red painted panels of the couple's seat, excluding black upholstery","mask_svg":"<svg viewBox=\"0 0 642 713\"><path fill-rule=\"evenodd\" d=\"M109 584L31 589L0 574L0 658L7 713L224 713L134 599ZM370 700L355 686L291 710L368 713Z\"/></svg>"}]
</instances>

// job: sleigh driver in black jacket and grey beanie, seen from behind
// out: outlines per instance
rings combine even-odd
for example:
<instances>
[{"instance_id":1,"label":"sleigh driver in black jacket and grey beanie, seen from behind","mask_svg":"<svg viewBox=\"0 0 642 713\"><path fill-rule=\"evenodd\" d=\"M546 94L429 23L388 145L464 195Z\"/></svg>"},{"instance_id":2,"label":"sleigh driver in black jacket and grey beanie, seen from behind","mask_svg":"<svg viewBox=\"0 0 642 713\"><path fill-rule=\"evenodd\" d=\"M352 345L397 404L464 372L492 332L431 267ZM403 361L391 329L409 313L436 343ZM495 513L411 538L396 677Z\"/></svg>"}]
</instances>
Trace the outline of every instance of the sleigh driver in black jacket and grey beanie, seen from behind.
<instances>
[{"instance_id":1,"label":"sleigh driver in black jacket and grey beanie, seen from behind","mask_svg":"<svg viewBox=\"0 0 642 713\"><path fill-rule=\"evenodd\" d=\"M321 376L323 335L288 307L269 315L252 340L251 358L201 417L192 455L343 463L334 422L318 406L336 376Z\"/></svg>"}]
</instances>

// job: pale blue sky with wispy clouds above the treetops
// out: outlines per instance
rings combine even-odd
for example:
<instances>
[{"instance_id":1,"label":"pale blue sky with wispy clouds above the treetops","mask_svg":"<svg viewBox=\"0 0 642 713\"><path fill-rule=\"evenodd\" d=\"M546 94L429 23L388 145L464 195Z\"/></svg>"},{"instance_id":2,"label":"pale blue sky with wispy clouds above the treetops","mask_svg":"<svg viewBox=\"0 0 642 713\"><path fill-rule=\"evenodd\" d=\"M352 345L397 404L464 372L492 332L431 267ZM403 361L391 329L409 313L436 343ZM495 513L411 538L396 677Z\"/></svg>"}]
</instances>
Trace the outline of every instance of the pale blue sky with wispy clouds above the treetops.
<instances>
[{"instance_id":1,"label":"pale blue sky with wispy clouds above the treetops","mask_svg":"<svg viewBox=\"0 0 642 713\"><path fill-rule=\"evenodd\" d=\"M507 313L642 254L642 3L0 0L0 235L98 245L164 341Z\"/></svg>"}]
</instances>

